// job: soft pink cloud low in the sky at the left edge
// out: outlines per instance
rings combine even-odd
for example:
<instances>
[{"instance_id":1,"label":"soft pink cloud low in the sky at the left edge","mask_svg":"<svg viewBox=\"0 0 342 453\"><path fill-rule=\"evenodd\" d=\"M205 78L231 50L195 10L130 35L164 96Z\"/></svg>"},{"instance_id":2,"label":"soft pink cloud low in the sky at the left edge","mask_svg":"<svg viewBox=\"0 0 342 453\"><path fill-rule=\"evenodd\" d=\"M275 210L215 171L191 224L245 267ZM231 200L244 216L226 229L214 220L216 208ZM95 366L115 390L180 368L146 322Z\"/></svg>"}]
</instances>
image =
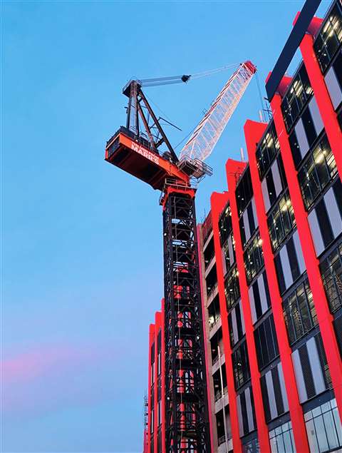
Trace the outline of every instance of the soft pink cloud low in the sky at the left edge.
<instances>
[{"instance_id":1,"label":"soft pink cloud low in the sky at the left edge","mask_svg":"<svg viewBox=\"0 0 342 453\"><path fill-rule=\"evenodd\" d=\"M103 389L110 390L105 367L118 358L108 347L50 345L4 360L5 413L45 412L103 398Z\"/></svg>"}]
</instances>

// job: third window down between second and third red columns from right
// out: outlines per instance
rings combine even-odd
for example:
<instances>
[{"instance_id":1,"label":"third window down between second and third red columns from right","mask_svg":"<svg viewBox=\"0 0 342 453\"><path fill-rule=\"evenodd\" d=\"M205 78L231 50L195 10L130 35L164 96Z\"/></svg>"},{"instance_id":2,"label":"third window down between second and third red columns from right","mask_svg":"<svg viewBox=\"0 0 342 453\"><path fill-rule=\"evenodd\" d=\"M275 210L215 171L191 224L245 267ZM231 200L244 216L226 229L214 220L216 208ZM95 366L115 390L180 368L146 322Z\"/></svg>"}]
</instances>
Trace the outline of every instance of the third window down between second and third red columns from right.
<instances>
[{"instance_id":1,"label":"third window down between second and third red columns from right","mask_svg":"<svg viewBox=\"0 0 342 453\"><path fill-rule=\"evenodd\" d=\"M290 345L317 324L316 310L308 280L301 283L283 303L284 318Z\"/></svg>"}]
</instances>

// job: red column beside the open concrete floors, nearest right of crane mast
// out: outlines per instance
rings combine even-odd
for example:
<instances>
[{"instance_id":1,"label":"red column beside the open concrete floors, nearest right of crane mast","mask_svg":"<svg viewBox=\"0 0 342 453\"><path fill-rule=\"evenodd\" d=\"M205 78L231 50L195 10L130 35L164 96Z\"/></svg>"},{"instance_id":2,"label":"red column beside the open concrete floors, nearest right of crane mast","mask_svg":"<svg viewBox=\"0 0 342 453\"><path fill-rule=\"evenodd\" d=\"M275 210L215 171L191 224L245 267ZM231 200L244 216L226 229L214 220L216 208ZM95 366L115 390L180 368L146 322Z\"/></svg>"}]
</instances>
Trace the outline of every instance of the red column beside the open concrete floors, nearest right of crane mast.
<instances>
[{"instance_id":1,"label":"red column beside the open concrete floors, nearest right of crane mast","mask_svg":"<svg viewBox=\"0 0 342 453\"><path fill-rule=\"evenodd\" d=\"M212 231L217 269L217 287L219 289L219 312L222 319L222 339L224 345L225 366L227 374L227 390L229 396L229 414L232 425L232 439L234 453L242 453L242 443L239 434L239 420L237 414L237 392L234 386L234 372L232 365L232 349L229 341L228 312L224 295L224 272L222 263L222 249L219 241L219 215L228 202L228 192L212 193L210 198L212 209ZM214 449L212 450L214 452Z\"/></svg>"}]
</instances>

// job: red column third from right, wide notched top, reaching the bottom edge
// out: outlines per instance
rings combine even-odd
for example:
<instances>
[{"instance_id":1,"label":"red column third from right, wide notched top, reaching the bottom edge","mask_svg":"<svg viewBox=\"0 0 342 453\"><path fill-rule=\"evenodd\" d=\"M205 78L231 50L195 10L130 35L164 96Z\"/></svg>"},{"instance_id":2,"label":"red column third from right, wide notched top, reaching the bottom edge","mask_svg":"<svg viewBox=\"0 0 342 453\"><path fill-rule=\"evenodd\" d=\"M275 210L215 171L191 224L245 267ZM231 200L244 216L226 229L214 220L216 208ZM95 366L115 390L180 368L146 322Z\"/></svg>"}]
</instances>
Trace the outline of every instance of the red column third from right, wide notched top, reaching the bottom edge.
<instances>
[{"instance_id":1,"label":"red column third from right, wide notched top, reaching the bottom edge","mask_svg":"<svg viewBox=\"0 0 342 453\"><path fill-rule=\"evenodd\" d=\"M257 217L259 220L259 233L262 240L262 250L264 253L264 264L269 283L269 295L271 298L271 307L274 316L274 325L276 327L276 337L278 339L279 354L282 369L284 372L284 381L286 387L287 399L289 402L289 412L291 415L292 428L294 432L294 441L297 452L309 452L309 443L306 437L306 427L304 424L303 409L299 402L299 395L296 386L296 377L294 366L291 358L291 347L289 345L286 332L286 325L282 310L282 299L279 291L278 280L276 278L276 268L274 265L274 254L269 237L269 228L267 225L266 209L264 198L262 197L261 181L257 166L257 143L261 139L266 124L255 121L247 121L244 125L244 134L246 137L247 151L249 156L249 169L251 170L252 186L254 193L255 205L257 208Z\"/></svg>"}]
</instances>

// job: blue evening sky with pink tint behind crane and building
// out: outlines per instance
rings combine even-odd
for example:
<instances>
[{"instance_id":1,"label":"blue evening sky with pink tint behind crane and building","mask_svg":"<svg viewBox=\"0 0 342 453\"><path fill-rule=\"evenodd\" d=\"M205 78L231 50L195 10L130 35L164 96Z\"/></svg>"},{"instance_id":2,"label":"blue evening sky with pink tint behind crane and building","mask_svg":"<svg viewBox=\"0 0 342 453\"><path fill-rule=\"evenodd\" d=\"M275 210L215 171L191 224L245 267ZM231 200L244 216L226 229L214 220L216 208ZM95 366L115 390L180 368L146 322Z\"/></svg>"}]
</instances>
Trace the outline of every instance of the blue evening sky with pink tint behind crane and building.
<instances>
[{"instance_id":1,"label":"blue evening sky with pink tint behind crane and building","mask_svg":"<svg viewBox=\"0 0 342 453\"><path fill-rule=\"evenodd\" d=\"M3 2L2 451L141 452L162 224L159 193L103 161L125 123L121 88L251 59L264 95L303 3ZM174 145L229 75L147 91L182 128L166 129ZM254 80L209 158L197 220L259 108Z\"/></svg>"}]
</instances>

